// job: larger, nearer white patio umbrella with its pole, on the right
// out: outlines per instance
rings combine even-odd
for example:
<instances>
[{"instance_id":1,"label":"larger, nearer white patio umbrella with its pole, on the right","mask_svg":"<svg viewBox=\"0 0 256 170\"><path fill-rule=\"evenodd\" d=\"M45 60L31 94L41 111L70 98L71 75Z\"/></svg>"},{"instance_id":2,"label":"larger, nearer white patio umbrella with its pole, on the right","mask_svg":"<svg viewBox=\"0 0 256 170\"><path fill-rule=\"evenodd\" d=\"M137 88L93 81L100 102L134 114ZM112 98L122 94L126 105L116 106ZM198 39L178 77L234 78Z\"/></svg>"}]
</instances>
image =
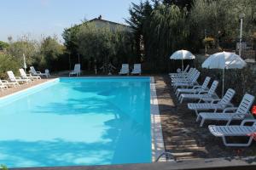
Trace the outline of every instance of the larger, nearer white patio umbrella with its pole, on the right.
<instances>
[{"instance_id":1,"label":"larger, nearer white patio umbrella with its pole, on the right","mask_svg":"<svg viewBox=\"0 0 256 170\"><path fill-rule=\"evenodd\" d=\"M246 62L241 59L241 57L237 54L230 52L220 52L217 54L212 54L205 60L205 62L201 65L202 68L207 69L222 69L222 96L224 94L224 74L225 69L242 69L246 66Z\"/></svg>"}]
</instances>

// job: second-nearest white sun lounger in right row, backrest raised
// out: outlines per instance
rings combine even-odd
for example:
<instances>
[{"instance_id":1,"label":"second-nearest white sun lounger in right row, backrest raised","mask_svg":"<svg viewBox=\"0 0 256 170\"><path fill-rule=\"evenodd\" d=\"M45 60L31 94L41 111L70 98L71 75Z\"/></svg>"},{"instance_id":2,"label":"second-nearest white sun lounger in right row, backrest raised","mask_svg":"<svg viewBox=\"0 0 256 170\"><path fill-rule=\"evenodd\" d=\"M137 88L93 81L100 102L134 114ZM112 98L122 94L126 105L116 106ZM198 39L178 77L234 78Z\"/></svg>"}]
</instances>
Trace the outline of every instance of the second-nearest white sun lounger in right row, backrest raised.
<instances>
[{"instance_id":1,"label":"second-nearest white sun lounger in right row, backrest raised","mask_svg":"<svg viewBox=\"0 0 256 170\"><path fill-rule=\"evenodd\" d=\"M228 125L233 120L243 120L246 116L252 116L249 112L253 105L254 96L245 94L238 107L227 107L222 113L201 112L196 118L196 122L201 119L200 127L203 126L206 120L211 121L227 121ZM228 112L233 111L233 112Z\"/></svg>"}]
</instances>

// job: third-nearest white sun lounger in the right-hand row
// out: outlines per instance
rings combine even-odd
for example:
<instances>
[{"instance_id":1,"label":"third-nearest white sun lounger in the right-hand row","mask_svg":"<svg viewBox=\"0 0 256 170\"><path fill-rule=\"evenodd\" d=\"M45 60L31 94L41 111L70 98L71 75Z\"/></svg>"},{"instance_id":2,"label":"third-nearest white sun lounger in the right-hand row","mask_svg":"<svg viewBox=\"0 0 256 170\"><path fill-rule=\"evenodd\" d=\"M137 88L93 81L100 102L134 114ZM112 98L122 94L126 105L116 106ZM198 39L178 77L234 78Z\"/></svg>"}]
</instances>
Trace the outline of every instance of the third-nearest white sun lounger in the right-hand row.
<instances>
[{"instance_id":1,"label":"third-nearest white sun lounger in the right-hand row","mask_svg":"<svg viewBox=\"0 0 256 170\"><path fill-rule=\"evenodd\" d=\"M230 103L231 99L233 99L234 95L236 94L235 90L229 88L226 94L222 99L212 99L211 103L189 103L188 108L189 110L195 111L196 116L198 116L198 111L209 111L213 110L214 113L216 111L223 111L226 107L233 105ZM218 102L218 103L214 103Z\"/></svg>"}]
</instances>

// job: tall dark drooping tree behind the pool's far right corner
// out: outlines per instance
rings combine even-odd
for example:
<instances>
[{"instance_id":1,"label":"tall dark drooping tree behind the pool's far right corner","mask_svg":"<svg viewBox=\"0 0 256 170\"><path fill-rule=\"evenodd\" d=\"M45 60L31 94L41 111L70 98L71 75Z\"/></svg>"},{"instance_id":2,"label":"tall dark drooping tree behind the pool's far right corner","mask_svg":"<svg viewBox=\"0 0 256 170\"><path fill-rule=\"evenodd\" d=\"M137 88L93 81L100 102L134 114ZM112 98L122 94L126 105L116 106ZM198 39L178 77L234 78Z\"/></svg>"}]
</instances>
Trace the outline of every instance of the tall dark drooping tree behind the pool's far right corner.
<instances>
[{"instance_id":1,"label":"tall dark drooping tree behind the pool's far right corner","mask_svg":"<svg viewBox=\"0 0 256 170\"><path fill-rule=\"evenodd\" d=\"M130 14L127 22L136 30L137 43L143 42L143 52L140 53L145 55L149 68L158 72L166 71L168 56L174 50L183 48L183 42L189 35L186 8L158 1L151 5L146 1L140 5L133 4Z\"/></svg>"}]
</instances>

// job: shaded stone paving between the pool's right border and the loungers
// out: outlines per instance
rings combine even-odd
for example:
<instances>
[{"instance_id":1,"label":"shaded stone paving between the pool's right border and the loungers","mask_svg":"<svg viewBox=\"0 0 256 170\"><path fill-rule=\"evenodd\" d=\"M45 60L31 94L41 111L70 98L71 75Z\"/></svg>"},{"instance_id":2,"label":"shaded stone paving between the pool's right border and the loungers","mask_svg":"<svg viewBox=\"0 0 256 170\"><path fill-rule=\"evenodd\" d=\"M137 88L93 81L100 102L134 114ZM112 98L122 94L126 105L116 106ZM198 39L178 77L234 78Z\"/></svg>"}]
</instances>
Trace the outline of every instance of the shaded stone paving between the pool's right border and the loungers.
<instances>
[{"instance_id":1,"label":"shaded stone paving between the pool's right border and the loungers","mask_svg":"<svg viewBox=\"0 0 256 170\"><path fill-rule=\"evenodd\" d=\"M211 122L206 122L204 127L199 127L199 122L195 122L195 113L189 111L186 104L177 104L169 77L159 76L154 77L154 80L166 151L172 152L177 159L256 155L256 142L247 148L225 147L221 138L216 138L209 133L207 126ZM224 123L219 122L222 125Z\"/></svg>"}]
</instances>

